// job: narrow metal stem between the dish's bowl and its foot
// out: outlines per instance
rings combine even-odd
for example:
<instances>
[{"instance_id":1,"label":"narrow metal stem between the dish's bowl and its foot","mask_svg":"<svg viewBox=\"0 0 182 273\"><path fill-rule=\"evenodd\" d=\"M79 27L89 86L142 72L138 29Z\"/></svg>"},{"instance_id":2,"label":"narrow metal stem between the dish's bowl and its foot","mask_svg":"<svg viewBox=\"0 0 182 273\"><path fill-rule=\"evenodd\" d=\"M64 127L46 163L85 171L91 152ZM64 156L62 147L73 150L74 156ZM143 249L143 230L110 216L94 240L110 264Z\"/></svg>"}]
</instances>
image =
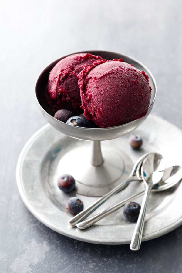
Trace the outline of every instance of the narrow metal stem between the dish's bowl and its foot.
<instances>
[{"instance_id":1,"label":"narrow metal stem between the dish's bowl and its foot","mask_svg":"<svg viewBox=\"0 0 182 273\"><path fill-rule=\"evenodd\" d=\"M103 157L101 153L100 141L91 141L91 160L90 163L95 166L99 167L103 164Z\"/></svg>"}]
</instances>

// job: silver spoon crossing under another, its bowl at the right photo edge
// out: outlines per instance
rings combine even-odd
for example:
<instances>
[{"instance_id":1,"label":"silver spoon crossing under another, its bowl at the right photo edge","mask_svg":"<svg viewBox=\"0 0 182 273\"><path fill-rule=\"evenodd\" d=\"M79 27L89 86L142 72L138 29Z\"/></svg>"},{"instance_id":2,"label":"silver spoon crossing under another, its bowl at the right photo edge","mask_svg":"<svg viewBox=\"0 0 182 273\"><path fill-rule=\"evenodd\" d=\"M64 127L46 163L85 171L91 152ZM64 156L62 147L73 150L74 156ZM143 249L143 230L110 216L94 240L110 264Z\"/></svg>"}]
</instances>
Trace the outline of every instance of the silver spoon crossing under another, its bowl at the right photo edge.
<instances>
[{"instance_id":1,"label":"silver spoon crossing under another, its bowl at the right photo edge","mask_svg":"<svg viewBox=\"0 0 182 273\"><path fill-rule=\"evenodd\" d=\"M163 177L159 181L157 187L152 188L152 192L158 192L167 190L174 185L176 185L181 179L182 179L182 172L179 172L181 169L181 166L172 166L167 169L165 169ZM119 208L123 207L124 204L127 202L133 201L134 199L142 196L145 193L145 191L140 192L139 194L134 194L127 199L117 203L116 205L113 205L112 207L101 211L100 213L94 215L93 217L90 217L89 219L86 219L85 221L82 221L78 223L76 226L79 229L85 229L87 227L92 226L97 221L101 220L102 218L106 217L107 215L111 214L112 212L118 210Z\"/></svg>"}]
</instances>

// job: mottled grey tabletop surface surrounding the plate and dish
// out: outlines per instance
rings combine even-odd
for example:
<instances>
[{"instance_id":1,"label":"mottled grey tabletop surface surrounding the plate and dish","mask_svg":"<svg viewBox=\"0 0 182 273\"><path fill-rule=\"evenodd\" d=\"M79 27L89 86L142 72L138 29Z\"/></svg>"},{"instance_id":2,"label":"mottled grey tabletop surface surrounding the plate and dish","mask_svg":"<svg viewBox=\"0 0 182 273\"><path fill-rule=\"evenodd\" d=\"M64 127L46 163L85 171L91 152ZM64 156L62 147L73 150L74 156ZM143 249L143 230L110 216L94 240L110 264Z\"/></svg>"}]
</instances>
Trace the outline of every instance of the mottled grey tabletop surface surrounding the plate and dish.
<instances>
[{"instance_id":1,"label":"mottled grey tabletop surface surrounding the plate and dish","mask_svg":"<svg viewBox=\"0 0 182 273\"><path fill-rule=\"evenodd\" d=\"M182 227L137 252L76 241L27 210L15 179L19 153L46 124L36 79L49 63L77 51L108 50L143 62L157 82L152 113L182 129L181 10L180 0L1 0L0 272L182 271Z\"/></svg>"}]
</instances>

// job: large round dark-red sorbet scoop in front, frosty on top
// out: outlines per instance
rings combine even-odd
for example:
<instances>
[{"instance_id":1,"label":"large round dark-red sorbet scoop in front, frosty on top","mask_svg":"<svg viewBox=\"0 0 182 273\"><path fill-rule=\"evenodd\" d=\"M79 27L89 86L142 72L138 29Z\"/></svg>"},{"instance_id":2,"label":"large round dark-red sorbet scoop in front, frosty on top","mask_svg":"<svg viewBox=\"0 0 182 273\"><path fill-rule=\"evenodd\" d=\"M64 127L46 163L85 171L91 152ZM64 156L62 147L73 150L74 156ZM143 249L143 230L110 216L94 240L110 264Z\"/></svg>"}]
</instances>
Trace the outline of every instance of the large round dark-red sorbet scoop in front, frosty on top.
<instances>
[{"instance_id":1,"label":"large round dark-red sorbet scoop in front, frosty on top","mask_svg":"<svg viewBox=\"0 0 182 273\"><path fill-rule=\"evenodd\" d=\"M99 127L118 126L146 115L148 76L122 59L99 59L78 74L82 107Z\"/></svg>"}]
</instances>

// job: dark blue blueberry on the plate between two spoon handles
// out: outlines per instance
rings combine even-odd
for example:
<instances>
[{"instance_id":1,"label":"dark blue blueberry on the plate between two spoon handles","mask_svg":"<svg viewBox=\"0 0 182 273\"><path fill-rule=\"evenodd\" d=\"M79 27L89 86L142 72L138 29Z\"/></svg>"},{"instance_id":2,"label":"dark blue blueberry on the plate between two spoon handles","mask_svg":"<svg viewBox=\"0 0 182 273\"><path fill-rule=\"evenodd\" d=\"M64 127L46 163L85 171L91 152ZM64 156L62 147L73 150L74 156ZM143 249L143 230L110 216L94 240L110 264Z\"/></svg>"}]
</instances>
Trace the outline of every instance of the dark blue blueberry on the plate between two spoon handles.
<instances>
[{"instance_id":1,"label":"dark blue blueberry on the plate between two spoon handles","mask_svg":"<svg viewBox=\"0 0 182 273\"><path fill-rule=\"evenodd\" d=\"M136 221L140 213L140 204L136 202L128 202L124 205L123 214L129 221Z\"/></svg>"}]
</instances>

